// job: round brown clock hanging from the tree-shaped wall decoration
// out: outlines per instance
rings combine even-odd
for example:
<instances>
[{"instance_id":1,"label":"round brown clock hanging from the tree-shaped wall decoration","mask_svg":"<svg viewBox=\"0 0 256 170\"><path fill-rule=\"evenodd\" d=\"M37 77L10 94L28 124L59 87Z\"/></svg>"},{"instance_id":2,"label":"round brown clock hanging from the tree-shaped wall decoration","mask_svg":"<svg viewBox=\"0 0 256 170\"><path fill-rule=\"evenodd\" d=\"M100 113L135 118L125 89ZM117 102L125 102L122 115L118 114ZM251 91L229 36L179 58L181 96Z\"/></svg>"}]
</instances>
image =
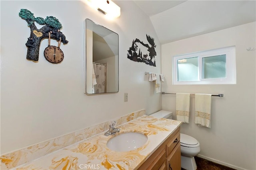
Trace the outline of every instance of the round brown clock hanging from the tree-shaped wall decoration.
<instances>
[{"instance_id":1,"label":"round brown clock hanging from the tree-shaped wall decoration","mask_svg":"<svg viewBox=\"0 0 256 170\"><path fill-rule=\"evenodd\" d=\"M50 45L44 50L44 58L50 63L60 63L64 59L64 53L59 47Z\"/></svg>"}]
</instances>

